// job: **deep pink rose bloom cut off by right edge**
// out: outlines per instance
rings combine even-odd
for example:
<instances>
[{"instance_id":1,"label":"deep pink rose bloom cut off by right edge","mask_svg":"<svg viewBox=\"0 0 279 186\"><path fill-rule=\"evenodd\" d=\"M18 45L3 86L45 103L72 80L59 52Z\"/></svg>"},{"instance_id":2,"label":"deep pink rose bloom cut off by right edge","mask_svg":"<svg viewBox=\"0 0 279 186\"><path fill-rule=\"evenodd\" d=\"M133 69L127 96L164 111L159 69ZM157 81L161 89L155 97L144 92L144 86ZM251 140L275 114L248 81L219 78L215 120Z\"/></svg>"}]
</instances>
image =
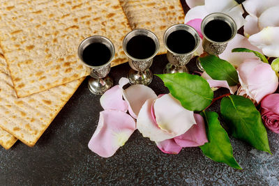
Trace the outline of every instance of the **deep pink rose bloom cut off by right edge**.
<instances>
[{"instance_id":1,"label":"deep pink rose bloom cut off by right edge","mask_svg":"<svg viewBox=\"0 0 279 186\"><path fill-rule=\"evenodd\" d=\"M267 95L261 102L264 125L279 134L279 93Z\"/></svg>"}]
</instances>

